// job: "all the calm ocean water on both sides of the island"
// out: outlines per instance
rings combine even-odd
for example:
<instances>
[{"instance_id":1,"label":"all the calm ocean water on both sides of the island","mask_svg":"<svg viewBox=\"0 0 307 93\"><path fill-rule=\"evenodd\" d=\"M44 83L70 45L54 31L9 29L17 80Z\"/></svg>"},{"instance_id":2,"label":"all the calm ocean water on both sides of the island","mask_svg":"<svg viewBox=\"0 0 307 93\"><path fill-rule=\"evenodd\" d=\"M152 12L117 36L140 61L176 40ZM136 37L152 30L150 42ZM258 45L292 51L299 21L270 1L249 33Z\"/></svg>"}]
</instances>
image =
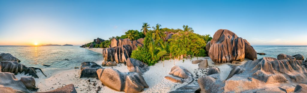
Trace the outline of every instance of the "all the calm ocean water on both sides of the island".
<instances>
[{"instance_id":1,"label":"all the calm ocean water on both sides of the island","mask_svg":"<svg viewBox=\"0 0 307 93\"><path fill-rule=\"evenodd\" d=\"M263 57L274 57L284 53L287 55L302 54L307 57L307 46L253 46L257 52L267 55L257 55L258 59ZM10 53L20 63L28 67L41 68L43 71L52 73L54 70L74 69L81 66L82 62L94 62L103 60L103 55L97 52L80 48L79 46L0 46L0 53ZM43 65L50 66L43 66Z\"/></svg>"}]
</instances>

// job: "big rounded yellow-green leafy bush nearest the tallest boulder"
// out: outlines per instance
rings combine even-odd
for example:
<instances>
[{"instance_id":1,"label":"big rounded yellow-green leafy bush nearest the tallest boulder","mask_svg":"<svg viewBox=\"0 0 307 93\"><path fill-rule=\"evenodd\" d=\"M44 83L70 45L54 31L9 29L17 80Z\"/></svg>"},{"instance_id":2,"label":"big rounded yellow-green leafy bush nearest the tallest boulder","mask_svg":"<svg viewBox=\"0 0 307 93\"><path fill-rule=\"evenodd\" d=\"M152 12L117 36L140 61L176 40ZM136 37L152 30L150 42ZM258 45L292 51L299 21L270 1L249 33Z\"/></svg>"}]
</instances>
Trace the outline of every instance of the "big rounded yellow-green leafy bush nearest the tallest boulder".
<instances>
[{"instance_id":1,"label":"big rounded yellow-green leafy bush nearest the tallest boulder","mask_svg":"<svg viewBox=\"0 0 307 93\"><path fill-rule=\"evenodd\" d=\"M172 55L205 55L200 54L200 50L204 48L206 43L199 34L191 31L179 32L178 34L174 34L169 41L177 45L177 47L173 48Z\"/></svg>"}]
</instances>

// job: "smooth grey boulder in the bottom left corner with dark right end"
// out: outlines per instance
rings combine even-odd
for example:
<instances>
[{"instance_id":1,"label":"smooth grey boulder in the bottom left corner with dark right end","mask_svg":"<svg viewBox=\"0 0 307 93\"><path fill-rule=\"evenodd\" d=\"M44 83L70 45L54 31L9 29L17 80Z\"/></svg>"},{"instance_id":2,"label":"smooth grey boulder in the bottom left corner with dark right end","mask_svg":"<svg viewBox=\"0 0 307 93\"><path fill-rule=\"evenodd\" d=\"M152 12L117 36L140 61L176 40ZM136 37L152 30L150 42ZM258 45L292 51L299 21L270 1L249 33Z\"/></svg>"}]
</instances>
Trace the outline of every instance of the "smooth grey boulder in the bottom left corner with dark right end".
<instances>
[{"instance_id":1,"label":"smooth grey boulder in the bottom left corner with dark right end","mask_svg":"<svg viewBox=\"0 0 307 93\"><path fill-rule=\"evenodd\" d=\"M0 85L3 85L4 87L10 87L15 90L23 91L25 93L31 93L29 90L37 90L33 77L24 77L22 81L18 80L15 75L10 72L0 72L0 77Z\"/></svg>"}]
</instances>

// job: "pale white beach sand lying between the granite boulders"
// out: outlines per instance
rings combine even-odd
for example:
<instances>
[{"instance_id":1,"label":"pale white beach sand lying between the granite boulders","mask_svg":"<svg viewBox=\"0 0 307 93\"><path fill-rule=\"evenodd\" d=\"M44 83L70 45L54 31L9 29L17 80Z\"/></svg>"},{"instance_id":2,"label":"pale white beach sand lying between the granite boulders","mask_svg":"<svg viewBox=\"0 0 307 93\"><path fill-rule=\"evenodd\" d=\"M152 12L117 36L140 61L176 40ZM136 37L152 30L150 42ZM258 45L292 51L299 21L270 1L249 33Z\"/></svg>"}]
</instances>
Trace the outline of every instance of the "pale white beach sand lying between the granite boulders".
<instances>
[{"instance_id":1,"label":"pale white beach sand lying between the granite boulders","mask_svg":"<svg viewBox=\"0 0 307 93\"><path fill-rule=\"evenodd\" d=\"M93 49L98 50L98 49ZM208 59L208 65L210 67L216 66L220 70L220 77L226 78L230 73L231 66L228 64L214 65L212 60L209 57L198 57L198 59ZM194 57L192 60L197 60ZM149 85L149 88L145 88L143 93L167 93L169 91L174 91L176 88L186 85L187 83L174 83L172 81L166 80L165 76L171 76L168 73L170 72L173 66L183 66L187 70L189 70L194 75L194 81L198 77L202 77L206 74L206 71L209 69L200 69L198 68L198 64L192 64L192 60L185 59L183 60L165 60L164 67L163 62L159 61L154 66L150 66L150 70L148 70L144 75L144 79L146 83ZM242 64L245 63L247 59L245 59ZM102 61L96 61L95 63L101 65ZM81 65L81 64L80 64ZM80 68L80 67L79 67ZM127 66L124 64L117 64L117 66L112 67L103 67L103 68L114 68L121 72L129 72ZM37 73L40 78L36 78L36 87L39 88L38 91L50 91L56 88L60 88L62 86L68 84L74 84L76 91L79 93L118 93L119 91L114 91L111 88L104 86L98 78L79 78L80 77L80 69L71 69L71 70L60 70L55 71L52 74L48 74L47 77L43 76L41 73ZM20 79L20 77L26 77L27 75L18 74L16 77ZM99 90L99 88L101 88Z\"/></svg>"}]
</instances>

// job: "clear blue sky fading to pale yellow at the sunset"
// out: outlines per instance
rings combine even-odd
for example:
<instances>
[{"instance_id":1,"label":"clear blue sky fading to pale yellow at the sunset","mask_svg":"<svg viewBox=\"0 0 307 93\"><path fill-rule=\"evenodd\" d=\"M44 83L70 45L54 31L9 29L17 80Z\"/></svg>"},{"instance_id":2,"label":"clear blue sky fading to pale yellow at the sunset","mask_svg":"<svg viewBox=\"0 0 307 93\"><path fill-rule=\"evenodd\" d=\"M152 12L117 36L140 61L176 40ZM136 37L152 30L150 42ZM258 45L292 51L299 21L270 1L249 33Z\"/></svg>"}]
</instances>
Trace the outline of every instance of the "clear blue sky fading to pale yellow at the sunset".
<instances>
[{"instance_id":1,"label":"clear blue sky fading to pale yellow at the sunset","mask_svg":"<svg viewBox=\"0 0 307 93\"><path fill-rule=\"evenodd\" d=\"M251 45L307 45L307 0L0 0L0 45L82 45L143 22L212 36L228 29Z\"/></svg>"}]
</instances>

